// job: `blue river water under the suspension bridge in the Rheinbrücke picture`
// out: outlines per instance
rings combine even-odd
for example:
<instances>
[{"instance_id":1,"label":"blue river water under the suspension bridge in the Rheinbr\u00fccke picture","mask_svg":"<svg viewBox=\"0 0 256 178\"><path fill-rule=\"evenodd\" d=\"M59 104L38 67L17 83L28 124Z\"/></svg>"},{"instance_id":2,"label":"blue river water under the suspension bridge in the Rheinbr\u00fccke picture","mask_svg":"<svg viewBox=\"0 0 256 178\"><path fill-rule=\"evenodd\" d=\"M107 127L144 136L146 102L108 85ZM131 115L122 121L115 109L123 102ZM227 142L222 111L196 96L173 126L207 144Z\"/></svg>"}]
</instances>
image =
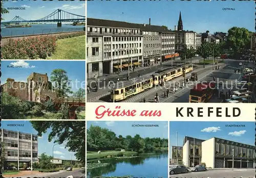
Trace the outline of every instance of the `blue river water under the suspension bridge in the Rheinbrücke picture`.
<instances>
[{"instance_id":1,"label":"blue river water under the suspension bridge in the Rheinbr\u00fccke picture","mask_svg":"<svg viewBox=\"0 0 256 178\"><path fill-rule=\"evenodd\" d=\"M7 36L20 36L20 35L33 35L33 34L46 34L56 32L74 32L82 31L84 26L72 26L71 24L62 24L62 27L57 27L55 24L31 24L32 27L22 28L6 28L1 24L2 37Z\"/></svg>"}]
</instances>

